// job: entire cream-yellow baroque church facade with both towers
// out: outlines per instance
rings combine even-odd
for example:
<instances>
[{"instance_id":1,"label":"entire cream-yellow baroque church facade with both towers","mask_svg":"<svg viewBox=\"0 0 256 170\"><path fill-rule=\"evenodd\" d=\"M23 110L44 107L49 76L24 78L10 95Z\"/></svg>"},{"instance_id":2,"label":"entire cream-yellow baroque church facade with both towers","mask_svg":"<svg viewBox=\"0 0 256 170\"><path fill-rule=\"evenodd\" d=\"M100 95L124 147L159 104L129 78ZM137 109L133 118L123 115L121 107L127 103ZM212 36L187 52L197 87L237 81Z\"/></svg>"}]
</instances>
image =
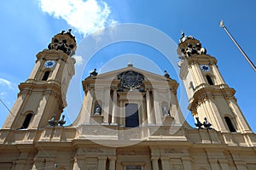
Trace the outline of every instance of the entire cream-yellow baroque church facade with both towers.
<instances>
[{"instance_id":1,"label":"entire cream-yellow baroque church facade with both towers","mask_svg":"<svg viewBox=\"0 0 256 170\"><path fill-rule=\"evenodd\" d=\"M65 126L75 50L71 32L62 31L37 54L0 130L0 169L256 169L256 136L236 91L194 37L183 34L177 54L195 127L180 111L177 82L132 64L91 72L79 116Z\"/></svg>"}]
</instances>

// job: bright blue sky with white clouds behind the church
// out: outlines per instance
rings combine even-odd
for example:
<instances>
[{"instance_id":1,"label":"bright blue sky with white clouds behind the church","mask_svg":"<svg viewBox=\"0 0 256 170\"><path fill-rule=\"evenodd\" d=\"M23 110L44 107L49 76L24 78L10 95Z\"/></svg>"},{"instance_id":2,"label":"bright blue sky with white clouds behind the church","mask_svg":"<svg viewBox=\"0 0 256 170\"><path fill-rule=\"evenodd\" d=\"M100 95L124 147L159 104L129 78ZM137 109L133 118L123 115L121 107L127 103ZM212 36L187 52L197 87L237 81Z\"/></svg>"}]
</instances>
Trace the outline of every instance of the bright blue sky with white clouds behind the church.
<instances>
[{"instance_id":1,"label":"bright blue sky with white clouds behind the church","mask_svg":"<svg viewBox=\"0 0 256 170\"><path fill-rule=\"evenodd\" d=\"M253 132L256 132L256 125L253 123L256 114L254 107L256 74L224 30L218 26L219 21L224 20L224 25L256 64L253 48L256 37L256 22L254 21L256 3L254 1L236 1L235 3L231 0L211 2L202 0L192 2L189 0L159 2L151 0L89 0L87 2L73 0L70 1L73 2L72 7L67 5L71 4L68 0L67 3L65 2L49 1L47 3L47 1L29 0L1 2L0 99L9 109L14 105L19 93L18 84L25 82L32 71L36 54L47 48L51 37L56 33L73 28L73 34L77 37L80 47L84 38L91 37L93 32L101 30L102 27L108 27L114 23L137 23L163 32L176 43L178 43L181 30L186 35L192 35L200 40L202 46L207 48L207 54L218 59L218 68L225 82L231 88L236 89L236 98L241 111ZM173 47L171 49L176 50ZM124 63L129 61L135 63L137 57L130 55L129 58L127 54L137 54L142 56L139 57L140 59L146 58L152 61L154 65L157 65L156 73L163 74L163 71L167 70L173 79L182 83L177 72L172 68L174 64L166 62L165 56L158 50L142 43L129 41L112 43L97 51L88 60L83 76L78 79L82 81L95 67L99 71L104 71L104 65L108 65L113 59L120 59L119 56L125 56L123 58L127 60L124 60ZM79 58L79 55L77 57L76 68L79 69L79 62L83 60ZM175 57L177 54L173 56ZM108 66L108 70L109 67L115 70L119 66L125 67L126 65L111 65ZM70 99L67 99L67 102L69 101ZM181 105L186 108L185 103ZM78 111L70 113L72 110L72 105L68 105L67 110L64 111L69 122L73 122L78 114ZM187 111L183 112L187 113ZM2 127L9 114L2 103L0 114L0 126ZM191 122L191 117L188 117L188 120Z\"/></svg>"}]
</instances>

